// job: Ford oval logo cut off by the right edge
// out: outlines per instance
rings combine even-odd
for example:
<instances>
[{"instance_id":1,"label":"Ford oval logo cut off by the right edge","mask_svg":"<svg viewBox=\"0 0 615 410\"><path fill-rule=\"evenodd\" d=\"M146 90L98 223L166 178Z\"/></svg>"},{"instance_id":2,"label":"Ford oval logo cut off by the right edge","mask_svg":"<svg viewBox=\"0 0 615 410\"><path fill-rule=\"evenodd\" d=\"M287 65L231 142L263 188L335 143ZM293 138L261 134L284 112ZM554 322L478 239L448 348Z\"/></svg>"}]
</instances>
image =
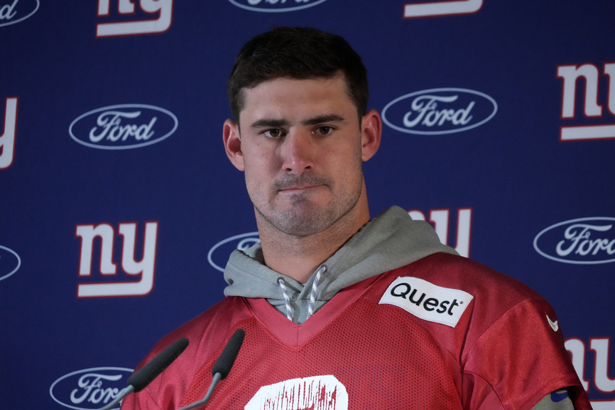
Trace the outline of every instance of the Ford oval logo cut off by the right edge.
<instances>
[{"instance_id":1,"label":"Ford oval logo cut off by the right edge","mask_svg":"<svg viewBox=\"0 0 615 410\"><path fill-rule=\"evenodd\" d=\"M579 218L543 229L534 249L545 258L573 264L615 262L615 218Z\"/></svg>"}]
</instances>

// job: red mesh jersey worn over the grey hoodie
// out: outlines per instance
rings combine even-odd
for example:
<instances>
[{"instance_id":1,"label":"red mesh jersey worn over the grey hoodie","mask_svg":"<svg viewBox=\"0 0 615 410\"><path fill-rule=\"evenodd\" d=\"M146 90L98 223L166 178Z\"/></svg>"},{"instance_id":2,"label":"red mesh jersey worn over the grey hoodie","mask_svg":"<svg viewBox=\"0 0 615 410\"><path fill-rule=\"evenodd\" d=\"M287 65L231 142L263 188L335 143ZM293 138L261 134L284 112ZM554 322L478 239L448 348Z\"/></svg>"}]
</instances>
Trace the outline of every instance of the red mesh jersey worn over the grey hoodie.
<instances>
[{"instance_id":1,"label":"red mesh jersey worn over the grey hoodie","mask_svg":"<svg viewBox=\"0 0 615 410\"><path fill-rule=\"evenodd\" d=\"M397 277L474 299L454 327L423 320L379 304ZM122 409L175 409L203 398L237 328L244 345L205 409L530 409L561 387L577 410L590 409L547 315L557 320L527 286L450 254L349 286L303 325L264 299L226 298L162 339L143 363L178 337L191 344Z\"/></svg>"}]
</instances>

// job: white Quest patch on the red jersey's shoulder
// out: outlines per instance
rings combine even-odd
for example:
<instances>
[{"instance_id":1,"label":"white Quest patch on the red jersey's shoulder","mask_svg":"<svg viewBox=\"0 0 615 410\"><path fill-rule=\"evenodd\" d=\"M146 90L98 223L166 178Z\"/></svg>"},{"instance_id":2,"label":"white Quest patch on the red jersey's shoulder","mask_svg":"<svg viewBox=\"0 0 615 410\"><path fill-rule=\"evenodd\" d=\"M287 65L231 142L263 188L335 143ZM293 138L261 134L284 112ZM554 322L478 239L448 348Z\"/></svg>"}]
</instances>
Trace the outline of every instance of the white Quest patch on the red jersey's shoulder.
<instances>
[{"instance_id":1,"label":"white Quest patch on the red jersey's shoulder","mask_svg":"<svg viewBox=\"0 0 615 410\"><path fill-rule=\"evenodd\" d=\"M474 296L462 290L407 276L395 279L379 304L395 305L421 319L454 328L472 299Z\"/></svg>"}]
</instances>

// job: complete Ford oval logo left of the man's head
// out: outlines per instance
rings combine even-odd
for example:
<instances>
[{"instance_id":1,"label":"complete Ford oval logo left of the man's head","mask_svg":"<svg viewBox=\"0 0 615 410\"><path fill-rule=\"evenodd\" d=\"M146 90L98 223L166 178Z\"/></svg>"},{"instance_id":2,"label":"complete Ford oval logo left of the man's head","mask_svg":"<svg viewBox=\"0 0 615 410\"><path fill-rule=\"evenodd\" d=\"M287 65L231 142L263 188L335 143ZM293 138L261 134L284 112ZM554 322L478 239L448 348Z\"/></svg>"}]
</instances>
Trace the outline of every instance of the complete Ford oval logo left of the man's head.
<instances>
[{"instance_id":1,"label":"complete Ford oval logo left of the man's head","mask_svg":"<svg viewBox=\"0 0 615 410\"><path fill-rule=\"evenodd\" d=\"M79 144L99 149L130 149L159 143L177 129L178 120L164 108L120 104L77 117L68 133Z\"/></svg>"}]
</instances>

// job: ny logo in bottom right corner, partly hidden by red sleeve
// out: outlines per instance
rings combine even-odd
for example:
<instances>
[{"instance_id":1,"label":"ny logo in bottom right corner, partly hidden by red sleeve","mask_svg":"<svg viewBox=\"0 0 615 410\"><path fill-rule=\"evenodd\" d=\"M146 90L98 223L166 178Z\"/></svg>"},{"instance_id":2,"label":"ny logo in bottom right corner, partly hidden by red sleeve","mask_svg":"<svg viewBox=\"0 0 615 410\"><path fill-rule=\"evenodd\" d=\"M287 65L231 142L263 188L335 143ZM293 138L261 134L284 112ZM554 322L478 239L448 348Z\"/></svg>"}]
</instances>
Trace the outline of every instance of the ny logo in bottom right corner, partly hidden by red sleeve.
<instances>
[{"instance_id":1,"label":"ny logo in bottom right corner, partly hidden by red sleeve","mask_svg":"<svg viewBox=\"0 0 615 410\"><path fill-rule=\"evenodd\" d=\"M585 392L590 393L593 410L612 410L615 408L615 379L608 376L610 342L609 337L590 337L589 339L589 350L594 353L593 387L595 387L596 394L591 394L594 392L590 391L590 380L585 378L585 364L591 363L585 342L578 337L570 337L564 343L579 380L581 380L581 385L585 388ZM591 364L589 367L592 367ZM598 398L598 396L601 398Z\"/></svg>"}]
</instances>

